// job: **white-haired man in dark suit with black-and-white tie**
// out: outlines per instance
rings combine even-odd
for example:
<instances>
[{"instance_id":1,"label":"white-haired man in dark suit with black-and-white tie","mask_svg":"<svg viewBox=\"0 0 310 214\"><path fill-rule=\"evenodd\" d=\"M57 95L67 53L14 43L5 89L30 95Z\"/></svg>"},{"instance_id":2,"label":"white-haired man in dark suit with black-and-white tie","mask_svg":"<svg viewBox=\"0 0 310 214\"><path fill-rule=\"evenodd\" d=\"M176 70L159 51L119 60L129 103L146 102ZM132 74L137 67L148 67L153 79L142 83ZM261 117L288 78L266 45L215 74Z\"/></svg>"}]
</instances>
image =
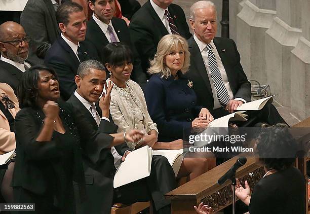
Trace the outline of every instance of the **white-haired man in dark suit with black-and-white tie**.
<instances>
[{"instance_id":1,"label":"white-haired man in dark suit with black-and-white tie","mask_svg":"<svg viewBox=\"0 0 310 214\"><path fill-rule=\"evenodd\" d=\"M240 64L240 55L231 39L215 38L216 8L210 1L199 1L190 8L188 75L197 94L198 104L219 118L251 101L251 84ZM267 102L261 111L247 111L249 122L285 123L275 106Z\"/></svg>"}]
</instances>

